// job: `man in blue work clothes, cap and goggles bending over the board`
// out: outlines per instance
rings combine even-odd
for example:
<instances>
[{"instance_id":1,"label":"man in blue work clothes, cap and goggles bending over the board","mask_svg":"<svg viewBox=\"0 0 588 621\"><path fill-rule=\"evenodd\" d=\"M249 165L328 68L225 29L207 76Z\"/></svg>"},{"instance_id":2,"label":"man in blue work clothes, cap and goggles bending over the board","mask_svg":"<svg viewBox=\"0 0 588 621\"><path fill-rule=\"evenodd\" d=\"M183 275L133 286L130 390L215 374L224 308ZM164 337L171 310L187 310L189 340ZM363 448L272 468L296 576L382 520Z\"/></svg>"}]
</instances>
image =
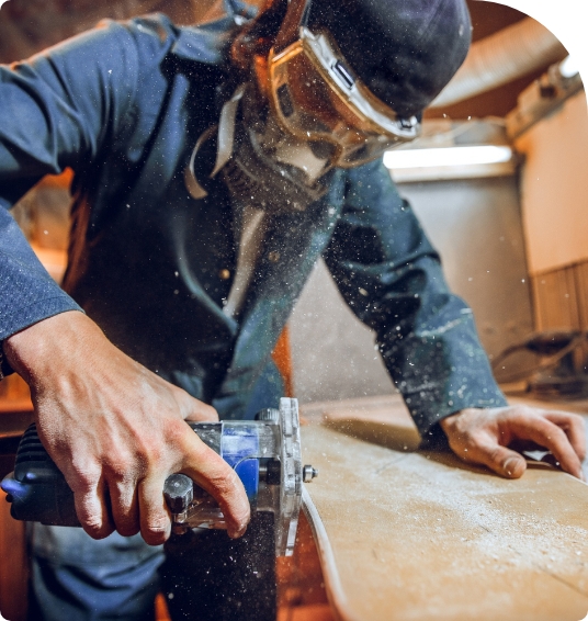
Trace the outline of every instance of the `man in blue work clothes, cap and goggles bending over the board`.
<instances>
[{"instance_id":1,"label":"man in blue work clothes, cap and goggles bending over the board","mask_svg":"<svg viewBox=\"0 0 588 621\"><path fill-rule=\"evenodd\" d=\"M106 23L1 69L2 206L75 171L69 295L0 210L3 369L31 386L84 531L132 538L35 527L46 619L146 618L161 554L133 535L168 539L173 472L244 533L240 482L184 420L273 405L260 382L321 255L425 440L507 477L525 468L508 444L530 440L581 476L581 420L507 407L378 160L465 57L464 2L276 0L245 29L246 7L225 8L200 29Z\"/></svg>"}]
</instances>

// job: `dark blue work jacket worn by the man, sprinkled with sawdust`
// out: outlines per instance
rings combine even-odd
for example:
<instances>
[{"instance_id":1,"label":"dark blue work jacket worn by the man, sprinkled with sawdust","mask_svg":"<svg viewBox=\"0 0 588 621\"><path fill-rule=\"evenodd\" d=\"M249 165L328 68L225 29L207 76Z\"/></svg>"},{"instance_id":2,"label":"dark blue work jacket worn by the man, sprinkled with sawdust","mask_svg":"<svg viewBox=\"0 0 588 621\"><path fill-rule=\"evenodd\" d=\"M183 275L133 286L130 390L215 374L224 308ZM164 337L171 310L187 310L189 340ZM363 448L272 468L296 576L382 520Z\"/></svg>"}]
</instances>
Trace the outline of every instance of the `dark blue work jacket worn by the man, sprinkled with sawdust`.
<instances>
[{"instance_id":1,"label":"dark blue work jacket worn by the man, sprinkled with sawdust","mask_svg":"<svg viewBox=\"0 0 588 621\"><path fill-rule=\"evenodd\" d=\"M235 84L229 24L104 22L0 68L0 339L79 304L134 359L238 418L323 256L421 433L464 407L504 405L471 309L381 161L333 171L306 212L273 217L239 323L223 314L238 246L229 197L215 179L194 200L183 170ZM8 213L66 167L67 294Z\"/></svg>"}]
</instances>

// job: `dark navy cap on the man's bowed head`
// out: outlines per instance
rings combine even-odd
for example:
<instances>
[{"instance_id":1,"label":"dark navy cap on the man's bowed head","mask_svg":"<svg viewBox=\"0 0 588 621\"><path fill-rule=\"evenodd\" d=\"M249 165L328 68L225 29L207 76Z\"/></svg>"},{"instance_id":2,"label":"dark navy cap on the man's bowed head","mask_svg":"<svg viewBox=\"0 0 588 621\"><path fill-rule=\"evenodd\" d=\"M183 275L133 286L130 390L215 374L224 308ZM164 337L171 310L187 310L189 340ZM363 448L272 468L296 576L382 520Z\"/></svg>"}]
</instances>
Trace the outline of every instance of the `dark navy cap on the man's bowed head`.
<instances>
[{"instance_id":1,"label":"dark navy cap on the man's bowed head","mask_svg":"<svg viewBox=\"0 0 588 621\"><path fill-rule=\"evenodd\" d=\"M465 0L314 0L308 26L326 29L368 88L402 116L419 114L463 63Z\"/></svg>"}]
</instances>

